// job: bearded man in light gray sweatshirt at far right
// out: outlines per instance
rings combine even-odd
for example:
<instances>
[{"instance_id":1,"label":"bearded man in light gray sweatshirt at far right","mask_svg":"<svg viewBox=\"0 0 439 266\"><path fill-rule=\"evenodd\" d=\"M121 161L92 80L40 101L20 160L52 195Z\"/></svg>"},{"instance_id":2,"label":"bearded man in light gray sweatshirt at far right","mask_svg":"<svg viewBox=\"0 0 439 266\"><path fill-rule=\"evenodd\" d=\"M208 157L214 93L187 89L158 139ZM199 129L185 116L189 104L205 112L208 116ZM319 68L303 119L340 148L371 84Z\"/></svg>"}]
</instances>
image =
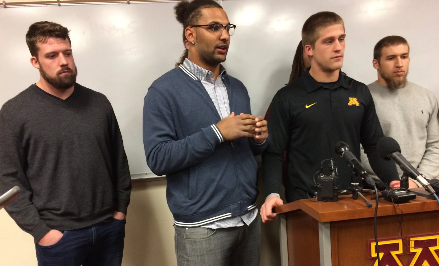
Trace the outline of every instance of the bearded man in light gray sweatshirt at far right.
<instances>
[{"instance_id":1,"label":"bearded man in light gray sweatshirt at far right","mask_svg":"<svg viewBox=\"0 0 439 266\"><path fill-rule=\"evenodd\" d=\"M374 47L372 60L378 80L367 87L374 98L384 135L394 138L404 157L432 179L439 175L438 101L432 92L407 81L409 52L409 44L401 36L381 39ZM364 163L374 175L367 160ZM402 170L398 171L402 175ZM409 187L417 184L409 180Z\"/></svg>"}]
</instances>

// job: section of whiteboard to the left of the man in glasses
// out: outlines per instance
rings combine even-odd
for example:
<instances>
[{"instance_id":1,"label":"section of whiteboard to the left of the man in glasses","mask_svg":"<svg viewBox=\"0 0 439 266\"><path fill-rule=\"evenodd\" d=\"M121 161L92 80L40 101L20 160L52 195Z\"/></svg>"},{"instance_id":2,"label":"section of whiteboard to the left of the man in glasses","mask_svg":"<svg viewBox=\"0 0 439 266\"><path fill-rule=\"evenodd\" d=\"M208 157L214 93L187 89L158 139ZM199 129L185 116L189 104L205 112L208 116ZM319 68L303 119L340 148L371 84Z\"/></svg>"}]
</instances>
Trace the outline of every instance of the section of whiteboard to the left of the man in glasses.
<instances>
[{"instance_id":1,"label":"section of whiteboard to the left of the man in glasses","mask_svg":"<svg viewBox=\"0 0 439 266\"><path fill-rule=\"evenodd\" d=\"M183 53L176 3L100 4L0 9L0 105L40 78L25 34L35 21L70 30L76 81L112 103L131 174L151 173L144 153L142 110L149 85Z\"/></svg>"}]
</instances>

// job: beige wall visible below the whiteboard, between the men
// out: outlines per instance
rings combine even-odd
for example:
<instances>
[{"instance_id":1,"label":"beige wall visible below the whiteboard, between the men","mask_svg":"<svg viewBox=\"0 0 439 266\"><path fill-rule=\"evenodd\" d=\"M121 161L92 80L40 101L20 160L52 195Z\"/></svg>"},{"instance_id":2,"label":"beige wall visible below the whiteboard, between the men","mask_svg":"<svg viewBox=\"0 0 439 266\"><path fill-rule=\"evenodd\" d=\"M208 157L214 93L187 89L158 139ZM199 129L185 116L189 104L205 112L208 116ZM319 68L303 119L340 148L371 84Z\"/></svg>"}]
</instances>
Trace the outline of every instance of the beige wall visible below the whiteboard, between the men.
<instances>
[{"instance_id":1,"label":"beige wall visible below the whiteboard, between the men","mask_svg":"<svg viewBox=\"0 0 439 266\"><path fill-rule=\"evenodd\" d=\"M165 180L133 180L122 266L176 265L173 218L165 193ZM4 209L0 211L0 224L0 265L36 265L33 238ZM278 223L262 226L261 266L280 265L277 228Z\"/></svg>"}]
</instances>

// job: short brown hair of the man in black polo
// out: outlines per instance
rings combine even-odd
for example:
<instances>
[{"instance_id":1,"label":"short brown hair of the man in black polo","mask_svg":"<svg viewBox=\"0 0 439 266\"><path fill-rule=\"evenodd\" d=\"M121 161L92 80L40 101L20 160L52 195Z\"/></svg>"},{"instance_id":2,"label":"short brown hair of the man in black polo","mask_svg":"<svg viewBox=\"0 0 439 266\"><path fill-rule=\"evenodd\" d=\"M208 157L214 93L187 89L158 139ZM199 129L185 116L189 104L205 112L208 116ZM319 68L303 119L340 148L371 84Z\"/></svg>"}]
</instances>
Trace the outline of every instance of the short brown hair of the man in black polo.
<instances>
[{"instance_id":1,"label":"short brown hair of the man in black polo","mask_svg":"<svg viewBox=\"0 0 439 266\"><path fill-rule=\"evenodd\" d=\"M312 48L319 39L320 28L326 28L331 25L342 24L343 19L338 14L330 11L322 11L311 15L303 24L302 27L302 44L303 46L309 44Z\"/></svg>"}]
</instances>

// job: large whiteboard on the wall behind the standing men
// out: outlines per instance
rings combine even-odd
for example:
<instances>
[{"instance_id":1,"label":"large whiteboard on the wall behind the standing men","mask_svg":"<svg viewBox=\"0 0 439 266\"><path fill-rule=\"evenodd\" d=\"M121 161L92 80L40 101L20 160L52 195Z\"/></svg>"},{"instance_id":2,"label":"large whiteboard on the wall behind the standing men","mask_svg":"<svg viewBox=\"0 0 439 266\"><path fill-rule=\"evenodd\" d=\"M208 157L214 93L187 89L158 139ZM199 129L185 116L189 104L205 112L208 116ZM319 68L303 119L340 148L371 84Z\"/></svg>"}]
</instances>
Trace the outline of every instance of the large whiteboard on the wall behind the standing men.
<instances>
[{"instance_id":1,"label":"large whiteboard on the wall behind the standing men","mask_svg":"<svg viewBox=\"0 0 439 266\"><path fill-rule=\"evenodd\" d=\"M231 38L229 74L246 86L252 113L264 115L286 82L303 23L318 11L345 21L342 70L369 84L376 80L373 47L384 36L410 44L409 80L439 96L437 0L222 0L237 30ZM151 173L142 140L143 99L148 86L174 67L184 50L175 2L0 8L0 105L39 79L29 63L25 33L35 21L71 30L77 82L104 93L115 110L132 174Z\"/></svg>"}]
</instances>

